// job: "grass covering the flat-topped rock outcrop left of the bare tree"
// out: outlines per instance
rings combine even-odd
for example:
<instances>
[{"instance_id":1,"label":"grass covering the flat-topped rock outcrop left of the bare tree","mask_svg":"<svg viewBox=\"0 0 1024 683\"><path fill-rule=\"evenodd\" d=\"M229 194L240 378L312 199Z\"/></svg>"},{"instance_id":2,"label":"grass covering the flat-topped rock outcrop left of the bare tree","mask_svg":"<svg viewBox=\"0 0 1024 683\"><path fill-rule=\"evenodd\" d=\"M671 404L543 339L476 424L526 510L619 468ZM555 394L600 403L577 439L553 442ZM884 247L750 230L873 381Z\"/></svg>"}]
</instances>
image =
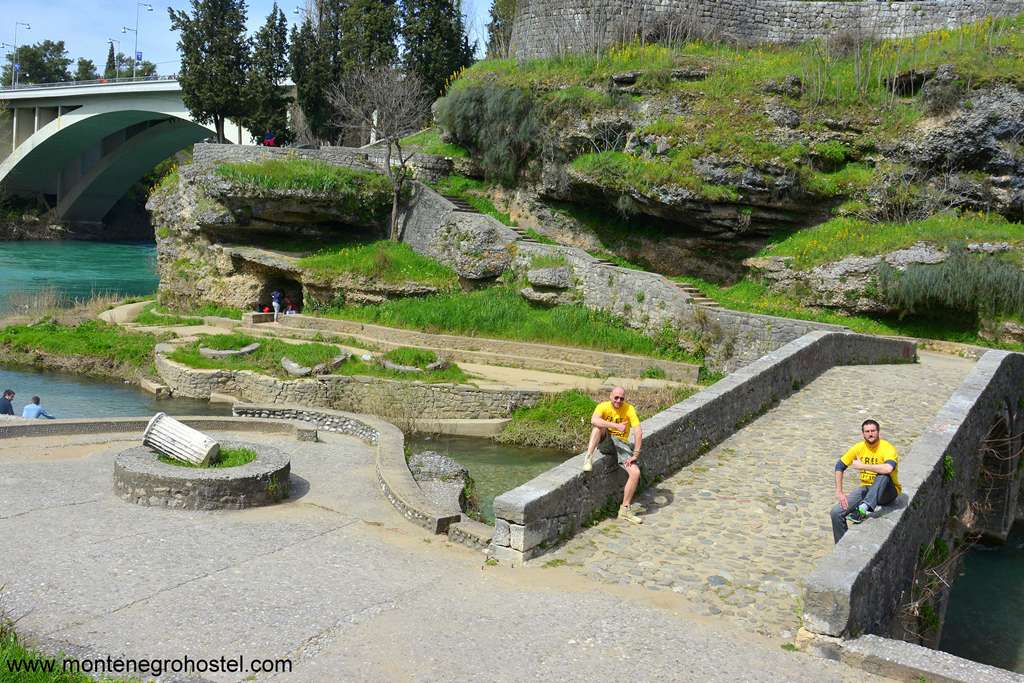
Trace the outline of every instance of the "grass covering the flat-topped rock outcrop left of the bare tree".
<instances>
[{"instance_id":1,"label":"grass covering the flat-topped rock outcrop left of the bare tree","mask_svg":"<svg viewBox=\"0 0 1024 683\"><path fill-rule=\"evenodd\" d=\"M302 159L220 164L216 173L251 190L304 189L329 196L335 208L366 222L383 221L391 210L391 182L380 173Z\"/></svg>"}]
</instances>

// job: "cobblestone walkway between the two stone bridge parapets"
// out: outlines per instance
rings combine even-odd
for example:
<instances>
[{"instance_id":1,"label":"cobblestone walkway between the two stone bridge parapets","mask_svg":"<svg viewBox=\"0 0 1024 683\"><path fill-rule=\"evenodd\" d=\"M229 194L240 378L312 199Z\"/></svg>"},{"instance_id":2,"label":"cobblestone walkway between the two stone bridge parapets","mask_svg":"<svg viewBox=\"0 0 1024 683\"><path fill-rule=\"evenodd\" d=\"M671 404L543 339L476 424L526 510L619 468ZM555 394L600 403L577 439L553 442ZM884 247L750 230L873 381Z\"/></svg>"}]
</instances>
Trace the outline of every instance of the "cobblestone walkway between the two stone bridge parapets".
<instances>
[{"instance_id":1,"label":"cobblestone walkway between the two stone bridge parapets","mask_svg":"<svg viewBox=\"0 0 1024 683\"><path fill-rule=\"evenodd\" d=\"M599 581L675 591L699 611L791 638L801 622L801 580L833 547L836 459L860 438L868 417L905 457L973 365L921 355L912 366L827 371L644 492L642 526L606 520L539 561L561 559ZM851 473L846 482L847 490L855 485Z\"/></svg>"}]
</instances>

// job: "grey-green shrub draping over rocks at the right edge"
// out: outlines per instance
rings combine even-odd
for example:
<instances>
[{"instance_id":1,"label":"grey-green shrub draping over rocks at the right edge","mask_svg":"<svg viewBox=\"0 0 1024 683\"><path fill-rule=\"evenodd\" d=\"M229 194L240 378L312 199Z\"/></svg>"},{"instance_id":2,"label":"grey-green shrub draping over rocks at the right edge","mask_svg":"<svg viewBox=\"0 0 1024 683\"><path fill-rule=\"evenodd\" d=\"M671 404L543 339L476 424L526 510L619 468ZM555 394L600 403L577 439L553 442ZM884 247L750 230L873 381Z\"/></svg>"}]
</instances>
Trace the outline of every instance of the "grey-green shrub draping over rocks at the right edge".
<instances>
[{"instance_id":1,"label":"grey-green shrub draping over rocks at the right edge","mask_svg":"<svg viewBox=\"0 0 1024 683\"><path fill-rule=\"evenodd\" d=\"M879 265L883 298L903 313L929 309L973 315L1024 314L1024 272L995 257L975 256L962 244L936 265L911 265L903 272Z\"/></svg>"}]
</instances>

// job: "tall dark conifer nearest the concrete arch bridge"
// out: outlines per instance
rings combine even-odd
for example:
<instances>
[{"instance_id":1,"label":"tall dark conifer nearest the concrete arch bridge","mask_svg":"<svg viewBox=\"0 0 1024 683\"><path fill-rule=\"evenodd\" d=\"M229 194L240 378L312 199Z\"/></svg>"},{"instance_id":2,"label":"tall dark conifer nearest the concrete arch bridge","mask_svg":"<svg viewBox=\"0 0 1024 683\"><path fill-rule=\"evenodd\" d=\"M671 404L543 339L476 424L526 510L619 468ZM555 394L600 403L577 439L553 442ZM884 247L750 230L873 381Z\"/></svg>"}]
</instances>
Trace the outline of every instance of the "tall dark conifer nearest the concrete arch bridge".
<instances>
[{"instance_id":1,"label":"tall dark conifer nearest the concrete arch bridge","mask_svg":"<svg viewBox=\"0 0 1024 683\"><path fill-rule=\"evenodd\" d=\"M223 141L224 121L246 114L245 0L191 0L193 15L168 8L171 29L180 32L178 51L181 97L200 123L213 122Z\"/></svg>"}]
</instances>

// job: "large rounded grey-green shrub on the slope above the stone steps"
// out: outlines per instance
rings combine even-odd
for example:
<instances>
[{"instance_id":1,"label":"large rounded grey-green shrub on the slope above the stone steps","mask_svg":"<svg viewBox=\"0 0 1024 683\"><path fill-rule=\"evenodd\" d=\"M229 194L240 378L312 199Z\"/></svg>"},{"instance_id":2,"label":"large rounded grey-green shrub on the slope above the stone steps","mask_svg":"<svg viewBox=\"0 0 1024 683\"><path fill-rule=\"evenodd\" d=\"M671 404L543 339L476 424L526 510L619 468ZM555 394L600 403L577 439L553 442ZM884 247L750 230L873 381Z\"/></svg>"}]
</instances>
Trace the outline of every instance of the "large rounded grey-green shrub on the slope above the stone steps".
<instances>
[{"instance_id":1,"label":"large rounded grey-green shrub on the slope above the stone steps","mask_svg":"<svg viewBox=\"0 0 1024 683\"><path fill-rule=\"evenodd\" d=\"M511 184L537 151L537 109L528 90L472 83L453 88L437 102L437 122L457 144L477 153L487 178Z\"/></svg>"}]
</instances>

